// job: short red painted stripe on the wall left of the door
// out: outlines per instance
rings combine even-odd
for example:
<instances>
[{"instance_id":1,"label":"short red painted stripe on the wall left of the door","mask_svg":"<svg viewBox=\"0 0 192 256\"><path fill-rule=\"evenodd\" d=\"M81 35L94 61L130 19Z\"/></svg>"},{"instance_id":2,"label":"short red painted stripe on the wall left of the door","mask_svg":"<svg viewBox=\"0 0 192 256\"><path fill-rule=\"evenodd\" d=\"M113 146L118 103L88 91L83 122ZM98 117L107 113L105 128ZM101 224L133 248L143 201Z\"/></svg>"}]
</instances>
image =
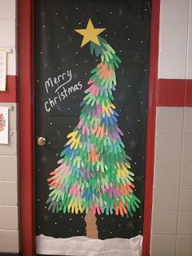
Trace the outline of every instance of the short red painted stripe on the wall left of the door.
<instances>
[{"instance_id":1,"label":"short red painted stripe on the wall left of the door","mask_svg":"<svg viewBox=\"0 0 192 256\"><path fill-rule=\"evenodd\" d=\"M0 92L0 102L16 102L16 76L7 76L6 91Z\"/></svg>"}]
</instances>

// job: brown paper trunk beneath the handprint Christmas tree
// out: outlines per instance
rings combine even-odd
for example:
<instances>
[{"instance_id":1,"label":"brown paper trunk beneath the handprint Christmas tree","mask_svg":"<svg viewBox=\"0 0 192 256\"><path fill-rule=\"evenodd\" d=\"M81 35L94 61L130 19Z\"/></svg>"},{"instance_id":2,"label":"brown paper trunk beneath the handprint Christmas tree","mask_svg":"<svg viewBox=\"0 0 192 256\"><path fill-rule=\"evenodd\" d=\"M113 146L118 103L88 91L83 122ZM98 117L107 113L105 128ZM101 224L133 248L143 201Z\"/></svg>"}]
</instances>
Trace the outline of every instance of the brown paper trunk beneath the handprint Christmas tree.
<instances>
[{"instance_id":1,"label":"brown paper trunk beneath the handprint Christmas tree","mask_svg":"<svg viewBox=\"0 0 192 256\"><path fill-rule=\"evenodd\" d=\"M97 218L93 214L93 211L89 209L88 214L85 215L86 223L86 236L91 239L98 238L98 227L96 224Z\"/></svg>"}]
</instances>

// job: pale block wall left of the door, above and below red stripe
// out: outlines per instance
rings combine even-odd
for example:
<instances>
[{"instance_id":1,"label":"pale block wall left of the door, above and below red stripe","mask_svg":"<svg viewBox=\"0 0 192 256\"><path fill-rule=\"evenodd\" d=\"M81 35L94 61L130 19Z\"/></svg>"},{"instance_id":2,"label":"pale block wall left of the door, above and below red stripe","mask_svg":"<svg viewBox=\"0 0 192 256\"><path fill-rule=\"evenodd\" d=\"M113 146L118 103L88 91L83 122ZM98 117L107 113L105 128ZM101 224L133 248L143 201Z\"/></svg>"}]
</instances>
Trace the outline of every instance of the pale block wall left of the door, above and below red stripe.
<instances>
[{"instance_id":1,"label":"pale block wall left of the door, above and below red stripe","mask_svg":"<svg viewBox=\"0 0 192 256\"><path fill-rule=\"evenodd\" d=\"M7 74L16 75L15 0L0 0L0 48L11 48ZM1 92L0 92L1 93ZM9 112L9 145L0 144L0 253L19 252L16 104Z\"/></svg>"}]
</instances>

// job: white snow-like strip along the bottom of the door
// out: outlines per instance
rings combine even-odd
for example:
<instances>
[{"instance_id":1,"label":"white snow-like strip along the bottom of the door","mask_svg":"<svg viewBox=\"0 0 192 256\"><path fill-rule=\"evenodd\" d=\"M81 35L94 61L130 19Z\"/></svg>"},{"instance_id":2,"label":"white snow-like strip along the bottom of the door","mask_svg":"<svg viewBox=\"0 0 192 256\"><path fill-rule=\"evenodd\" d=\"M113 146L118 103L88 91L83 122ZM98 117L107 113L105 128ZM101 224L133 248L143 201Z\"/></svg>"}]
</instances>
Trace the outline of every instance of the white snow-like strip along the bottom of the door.
<instances>
[{"instance_id":1,"label":"white snow-like strip along the bottom of the door","mask_svg":"<svg viewBox=\"0 0 192 256\"><path fill-rule=\"evenodd\" d=\"M85 236L54 238L36 236L36 253L70 256L141 256L142 236L130 239L89 239Z\"/></svg>"}]
</instances>

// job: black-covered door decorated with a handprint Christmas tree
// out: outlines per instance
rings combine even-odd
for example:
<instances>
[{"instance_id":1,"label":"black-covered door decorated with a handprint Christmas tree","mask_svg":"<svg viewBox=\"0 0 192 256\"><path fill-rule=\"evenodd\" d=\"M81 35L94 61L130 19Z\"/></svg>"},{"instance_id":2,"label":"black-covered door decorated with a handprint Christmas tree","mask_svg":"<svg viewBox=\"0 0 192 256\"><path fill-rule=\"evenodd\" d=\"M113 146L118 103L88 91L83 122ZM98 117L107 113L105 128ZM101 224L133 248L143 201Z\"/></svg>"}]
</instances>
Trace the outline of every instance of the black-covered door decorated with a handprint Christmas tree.
<instances>
[{"instance_id":1,"label":"black-covered door decorated with a handprint Christmas tree","mask_svg":"<svg viewBox=\"0 0 192 256\"><path fill-rule=\"evenodd\" d=\"M142 237L150 33L150 1L35 2L39 254Z\"/></svg>"}]
</instances>

